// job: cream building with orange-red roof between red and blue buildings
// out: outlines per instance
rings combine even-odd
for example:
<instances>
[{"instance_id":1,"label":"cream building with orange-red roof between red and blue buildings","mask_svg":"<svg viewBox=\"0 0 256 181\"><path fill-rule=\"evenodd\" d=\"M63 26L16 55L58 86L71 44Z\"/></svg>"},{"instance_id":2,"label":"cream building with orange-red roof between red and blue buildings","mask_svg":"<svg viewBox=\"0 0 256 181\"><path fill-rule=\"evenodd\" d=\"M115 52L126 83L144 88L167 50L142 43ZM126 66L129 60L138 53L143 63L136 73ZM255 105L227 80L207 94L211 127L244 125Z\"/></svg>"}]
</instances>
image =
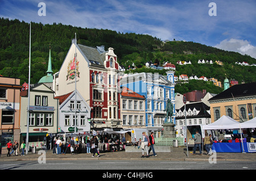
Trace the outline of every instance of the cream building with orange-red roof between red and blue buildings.
<instances>
[{"instance_id":1,"label":"cream building with orange-red roof between red and blue buildings","mask_svg":"<svg viewBox=\"0 0 256 181\"><path fill-rule=\"evenodd\" d=\"M145 98L142 95L123 87L121 92L122 128L146 128Z\"/></svg>"}]
</instances>

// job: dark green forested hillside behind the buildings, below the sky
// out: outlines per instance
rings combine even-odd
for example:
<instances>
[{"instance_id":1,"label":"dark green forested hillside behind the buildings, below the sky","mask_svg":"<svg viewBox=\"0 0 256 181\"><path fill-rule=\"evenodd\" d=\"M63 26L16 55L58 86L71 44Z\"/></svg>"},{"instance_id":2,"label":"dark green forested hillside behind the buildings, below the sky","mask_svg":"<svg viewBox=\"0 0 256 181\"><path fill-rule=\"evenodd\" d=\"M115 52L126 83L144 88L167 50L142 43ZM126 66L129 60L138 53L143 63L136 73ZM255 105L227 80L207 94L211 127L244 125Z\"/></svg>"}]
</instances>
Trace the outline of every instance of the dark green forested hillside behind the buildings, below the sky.
<instances>
[{"instance_id":1,"label":"dark green forested hillside behind the buildings, below the sky","mask_svg":"<svg viewBox=\"0 0 256 181\"><path fill-rule=\"evenodd\" d=\"M28 81L30 24L19 20L0 18L0 74L6 77L20 78L20 82ZM71 40L77 34L79 44L92 47L105 45L105 49L114 48L120 65L126 68L134 65L135 71L155 70L143 68L146 62L171 62L176 65L176 75L192 74L200 77L214 77L223 81L225 74L228 78L239 82L255 82L255 66L240 66L234 62L256 62L250 56L228 52L200 43L170 41L162 43L157 37L122 33L112 30L98 30L63 24L32 23L31 26L31 83L36 83L46 75L49 46L51 45L53 73L59 71L61 64L71 45ZM223 66L213 64L197 64L199 59L220 60ZM177 65L176 61L191 61L192 65ZM160 73L165 74L161 71Z\"/></svg>"}]
</instances>

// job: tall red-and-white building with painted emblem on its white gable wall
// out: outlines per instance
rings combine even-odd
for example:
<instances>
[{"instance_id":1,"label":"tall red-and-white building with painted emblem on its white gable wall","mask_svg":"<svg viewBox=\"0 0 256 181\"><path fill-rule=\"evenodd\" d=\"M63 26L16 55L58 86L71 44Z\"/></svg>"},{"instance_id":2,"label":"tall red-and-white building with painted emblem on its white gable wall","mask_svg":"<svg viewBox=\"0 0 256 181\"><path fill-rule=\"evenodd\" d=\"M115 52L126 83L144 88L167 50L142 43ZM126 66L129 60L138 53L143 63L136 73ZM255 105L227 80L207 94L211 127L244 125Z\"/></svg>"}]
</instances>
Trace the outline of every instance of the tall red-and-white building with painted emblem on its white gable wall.
<instances>
[{"instance_id":1,"label":"tall red-and-white building with painted emblem on its white gable wall","mask_svg":"<svg viewBox=\"0 0 256 181\"><path fill-rule=\"evenodd\" d=\"M113 48L88 47L74 39L63 65L53 76L55 96L68 94L76 87L90 106L95 129L121 128L118 72Z\"/></svg>"}]
</instances>

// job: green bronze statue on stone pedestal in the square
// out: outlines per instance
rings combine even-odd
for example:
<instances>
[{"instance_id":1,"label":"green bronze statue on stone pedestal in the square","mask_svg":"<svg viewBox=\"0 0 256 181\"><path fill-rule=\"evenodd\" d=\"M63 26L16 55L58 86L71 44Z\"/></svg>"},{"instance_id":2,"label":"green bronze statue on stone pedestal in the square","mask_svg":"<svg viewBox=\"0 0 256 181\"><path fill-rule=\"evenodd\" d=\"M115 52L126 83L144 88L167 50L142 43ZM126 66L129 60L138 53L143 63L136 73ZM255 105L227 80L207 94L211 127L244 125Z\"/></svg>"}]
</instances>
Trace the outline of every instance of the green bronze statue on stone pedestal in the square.
<instances>
[{"instance_id":1,"label":"green bronze statue on stone pedestal in the square","mask_svg":"<svg viewBox=\"0 0 256 181\"><path fill-rule=\"evenodd\" d=\"M166 119L163 124L163 137L164 138L175 138L175 124L172 122L172 116L174 115L174 105L171 103L171 100L167 100L166 104Z\"/></svg>"}]
</instances>

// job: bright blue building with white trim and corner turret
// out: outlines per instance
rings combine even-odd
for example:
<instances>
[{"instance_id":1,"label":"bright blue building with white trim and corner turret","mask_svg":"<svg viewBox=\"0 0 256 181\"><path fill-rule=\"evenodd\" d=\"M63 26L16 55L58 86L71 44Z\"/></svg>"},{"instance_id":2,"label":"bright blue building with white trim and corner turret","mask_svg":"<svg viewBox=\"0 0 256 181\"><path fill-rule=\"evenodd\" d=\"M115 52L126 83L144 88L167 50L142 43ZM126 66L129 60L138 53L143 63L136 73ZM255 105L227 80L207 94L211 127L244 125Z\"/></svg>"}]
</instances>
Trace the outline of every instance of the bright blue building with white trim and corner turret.
<instances>
[{"instance_id":1,"label":"bright blue building with white trim and corner turret","mask_svg":"<svg viewBox=\"0 0 256 181\"><path fill-rule=\"evenodd\" d=\"M175 124L174 71L167 71L166 76L158 73L129 74L121 79L120 86L125 86L146 98L146 129L148 132L153 131L155 137L163 134L163 123L166 119L164 110L168 99L174 104L172 122Z\"/></svg>"}]
</instances>

